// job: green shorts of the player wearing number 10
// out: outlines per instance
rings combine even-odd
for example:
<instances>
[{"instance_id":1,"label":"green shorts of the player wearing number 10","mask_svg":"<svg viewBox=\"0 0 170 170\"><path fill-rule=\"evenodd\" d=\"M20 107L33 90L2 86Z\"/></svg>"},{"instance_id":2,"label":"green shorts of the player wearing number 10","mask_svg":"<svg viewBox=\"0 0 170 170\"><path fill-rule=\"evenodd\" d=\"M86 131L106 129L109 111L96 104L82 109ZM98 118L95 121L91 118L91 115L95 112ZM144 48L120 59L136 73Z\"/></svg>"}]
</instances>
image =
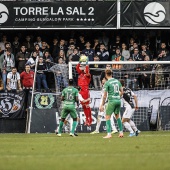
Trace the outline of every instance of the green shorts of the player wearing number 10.
<instances>
[{"instance_id":1,"label":"green shorts of the player wearing number 10","mask_svg":"<svg viewBox=\"0 0 170 170\"><path fill-rule=\"evenodd\" d=\"M120 113L120 100L109 101L106 106L106 115L119 114Z\"/></svg>"}]
</instances>

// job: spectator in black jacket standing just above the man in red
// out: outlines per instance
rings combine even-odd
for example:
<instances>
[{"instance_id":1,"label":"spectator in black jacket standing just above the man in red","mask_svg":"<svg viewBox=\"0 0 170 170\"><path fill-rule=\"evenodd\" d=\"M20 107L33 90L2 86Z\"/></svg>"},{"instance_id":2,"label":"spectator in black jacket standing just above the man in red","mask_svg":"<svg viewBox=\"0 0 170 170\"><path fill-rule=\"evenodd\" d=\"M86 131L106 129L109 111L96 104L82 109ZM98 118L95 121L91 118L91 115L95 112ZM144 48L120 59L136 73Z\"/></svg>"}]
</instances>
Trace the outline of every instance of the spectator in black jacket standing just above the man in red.
<instances>
[{"instance_id":1,"label":"spectator in black jacket standing just above the man in red","mask_svg":"<svg viewBox=\"0 0 170 170\"><path fill-rule=\"evenodd\" d=\"M21 51L16 55L16 61L18 63L18 72L22 73L25 70L25 64L30 57L30 53L26 51L24 45L21 46Z\"/></svg>"}]
</instances>

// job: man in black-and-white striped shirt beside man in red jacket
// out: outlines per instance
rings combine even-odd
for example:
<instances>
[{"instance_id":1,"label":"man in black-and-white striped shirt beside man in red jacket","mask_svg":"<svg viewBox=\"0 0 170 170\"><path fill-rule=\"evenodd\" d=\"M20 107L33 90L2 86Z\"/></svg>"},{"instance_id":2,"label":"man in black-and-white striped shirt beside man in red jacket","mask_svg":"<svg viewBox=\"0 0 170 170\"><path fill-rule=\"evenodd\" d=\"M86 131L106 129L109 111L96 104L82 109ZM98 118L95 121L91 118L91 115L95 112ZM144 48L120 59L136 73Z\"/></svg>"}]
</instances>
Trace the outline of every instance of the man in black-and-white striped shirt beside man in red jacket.
<instances>
[{"instance_id":1,"label":"man in black-and-white striped shirt beside man in red jacket","mask_svg":"<svg viewBox=\"0 0 170 170\"><path fill-rule=\"evenodd\" d=\"M12 71L7 74L7 90L16 92L17 89L22 90L20 82L20 74L17 72L17 68L13 67Z\"/></svg>"}]
</instances>

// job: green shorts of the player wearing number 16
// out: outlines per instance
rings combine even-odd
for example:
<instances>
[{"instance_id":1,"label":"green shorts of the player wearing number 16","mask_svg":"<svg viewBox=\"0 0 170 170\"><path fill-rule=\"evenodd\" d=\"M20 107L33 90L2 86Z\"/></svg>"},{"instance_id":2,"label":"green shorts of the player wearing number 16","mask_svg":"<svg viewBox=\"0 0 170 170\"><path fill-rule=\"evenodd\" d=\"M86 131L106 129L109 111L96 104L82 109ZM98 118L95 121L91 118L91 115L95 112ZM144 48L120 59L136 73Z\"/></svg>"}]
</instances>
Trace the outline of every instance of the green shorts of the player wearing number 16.
<instances>
[{"instance_id":1,"label":"green shorts of the player wearing number 16","mask_svg":"<svg viewBox=\"0 0 170 170\"><path fill-rule=\"evenodd\" d=\"M75 105L65 105L61 111L61 118L66 118L70 114L72 118L77 118Z\"/></svg>"}]
</instances>

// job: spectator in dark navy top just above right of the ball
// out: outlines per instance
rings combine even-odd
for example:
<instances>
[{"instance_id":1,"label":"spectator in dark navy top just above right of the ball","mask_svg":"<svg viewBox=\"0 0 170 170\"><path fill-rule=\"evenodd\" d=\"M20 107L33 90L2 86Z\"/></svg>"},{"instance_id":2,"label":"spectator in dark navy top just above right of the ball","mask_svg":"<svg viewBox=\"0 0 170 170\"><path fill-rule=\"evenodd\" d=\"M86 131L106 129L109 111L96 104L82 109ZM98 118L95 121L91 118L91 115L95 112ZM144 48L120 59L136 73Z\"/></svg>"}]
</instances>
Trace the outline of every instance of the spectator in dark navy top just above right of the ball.
<instances>
[{"instance_id":1,"label":"spectator in dark navy top just above right of the ball","mask_svg":"<svg viewBox=\"0 0 170 170\"><path fill-rule=\"evenodd\" d=\"M86 48L82 51L82 54L85 54L88 57L89 61L93 61L95 51L92 49L90 41L86 41Z\"/></svg>"}]
</instances>

